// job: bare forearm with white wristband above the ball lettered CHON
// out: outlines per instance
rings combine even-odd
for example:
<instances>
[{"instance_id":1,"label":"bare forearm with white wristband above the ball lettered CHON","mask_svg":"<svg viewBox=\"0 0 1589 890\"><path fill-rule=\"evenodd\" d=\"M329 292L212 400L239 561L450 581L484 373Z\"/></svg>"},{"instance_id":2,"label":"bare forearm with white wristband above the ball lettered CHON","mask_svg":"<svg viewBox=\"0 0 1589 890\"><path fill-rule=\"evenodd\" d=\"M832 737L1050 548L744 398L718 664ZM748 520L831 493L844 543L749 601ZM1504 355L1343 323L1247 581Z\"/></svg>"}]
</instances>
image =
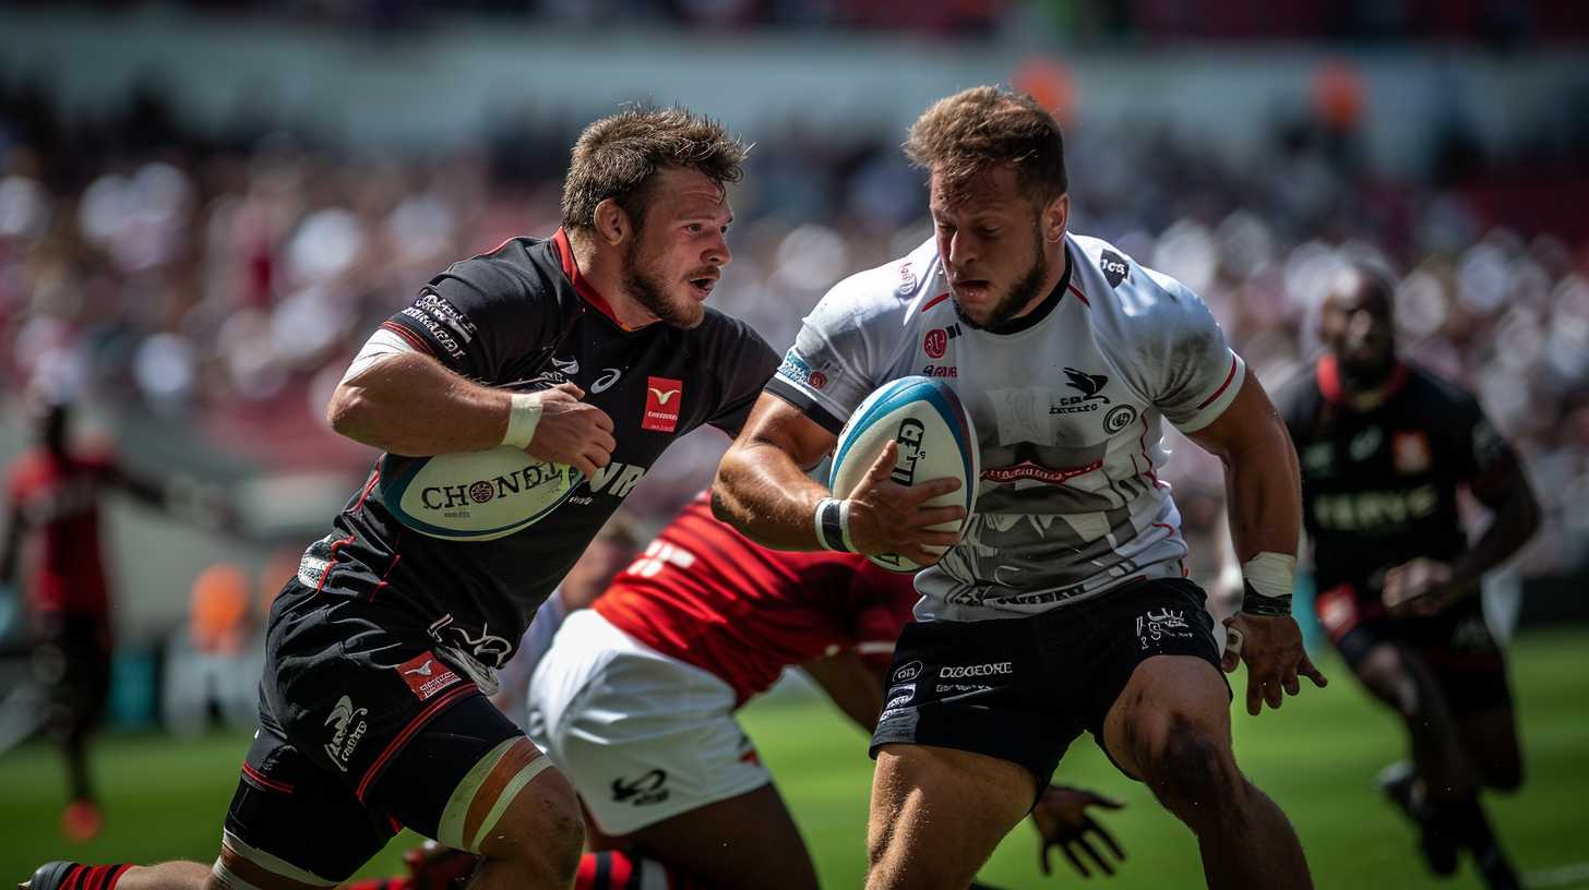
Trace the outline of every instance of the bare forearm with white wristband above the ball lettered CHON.
<instances>
[{"instance_id":1,"label":"bare forearm with white wristband above the ball lettered CHON","mask_svg":"<svg viewBox=\"0 0 1589 890\"><path fill-rule=\"evenodd\" d=\"M502 443L512 394L464 380L431 356L386 358L337 386L338 434L394 455L450 455Z\"/></svg>"}]
</instances>

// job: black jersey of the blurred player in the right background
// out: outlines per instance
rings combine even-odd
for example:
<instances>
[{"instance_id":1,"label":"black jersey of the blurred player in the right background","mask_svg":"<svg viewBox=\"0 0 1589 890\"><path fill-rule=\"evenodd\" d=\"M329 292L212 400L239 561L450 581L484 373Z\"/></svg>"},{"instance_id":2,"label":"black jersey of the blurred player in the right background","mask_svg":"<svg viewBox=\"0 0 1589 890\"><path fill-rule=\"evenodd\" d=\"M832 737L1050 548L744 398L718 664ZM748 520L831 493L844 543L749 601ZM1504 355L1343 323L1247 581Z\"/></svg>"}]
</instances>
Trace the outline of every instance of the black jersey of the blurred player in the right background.
<instances>
[{"instance_id":1,"label":"black jersey of the blurred player in the right background","mask_svg":"<svg viewBox=\"0 0 1589 890\"><path fill-rule=\"evenodd\" d=\"M1456 558L1467 547L1457 488L1514 466L1468 393L1405 364L1389 386L1379 407L1352 410L1325 356L1276 397L1301 461L1319 590L1352 585L1378 601L1386 569Z\"/></svg>"}]
</instances>

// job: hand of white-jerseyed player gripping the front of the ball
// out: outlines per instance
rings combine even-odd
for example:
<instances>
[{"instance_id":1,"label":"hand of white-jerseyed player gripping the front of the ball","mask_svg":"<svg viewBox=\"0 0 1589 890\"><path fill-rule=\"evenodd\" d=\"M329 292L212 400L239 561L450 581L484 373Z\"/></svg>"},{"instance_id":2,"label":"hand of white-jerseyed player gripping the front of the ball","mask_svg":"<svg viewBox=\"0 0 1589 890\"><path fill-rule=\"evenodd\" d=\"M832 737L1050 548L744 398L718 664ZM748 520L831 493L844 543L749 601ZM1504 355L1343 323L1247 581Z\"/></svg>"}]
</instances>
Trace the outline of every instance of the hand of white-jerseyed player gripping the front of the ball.
<instances>
[{"instance_id":1,"label":"hand of white-jerseyed player gripping the front of the ball","mask_svg":"<svg viewBox=\"0 0 1589 890\"><path fill-rule=\"evenodd\" d=\"M904 486L893 482L899 445L883 445L872 467L850 493L850 544L869 556L898 553L922 566L938 563L942 553L928 547L953 547L960 531L931 531L931 526L958 523L966 518L965 507L923 507L939 494L960 488L957 478L933 478Z\"/></svg>"}]
</instances>

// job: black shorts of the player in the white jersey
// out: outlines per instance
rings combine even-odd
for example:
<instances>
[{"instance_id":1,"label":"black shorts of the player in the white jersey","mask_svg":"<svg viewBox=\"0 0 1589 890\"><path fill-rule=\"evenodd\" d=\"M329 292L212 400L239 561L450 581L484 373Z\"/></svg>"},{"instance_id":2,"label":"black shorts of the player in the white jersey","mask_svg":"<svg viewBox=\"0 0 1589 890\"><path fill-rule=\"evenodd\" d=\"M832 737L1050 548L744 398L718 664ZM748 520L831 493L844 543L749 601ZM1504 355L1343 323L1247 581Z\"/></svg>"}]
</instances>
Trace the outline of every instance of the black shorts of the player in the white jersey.
<instances>
[{"instance_id":1,"label":"black shorts of the player in the white jersey","mask_svg":"<svg viewBox=\"0 0 1589 890\"><path fill-rule=\"evenodd\" d=\"M1104 749L1103 720L1138 664L1192 655L1219 671L1204 601L1195 583L1163 578L1031 618L906 625L871 755L968 750L1019 763L1044 788L1084 729Z\"/></svg>"}]
</instances>

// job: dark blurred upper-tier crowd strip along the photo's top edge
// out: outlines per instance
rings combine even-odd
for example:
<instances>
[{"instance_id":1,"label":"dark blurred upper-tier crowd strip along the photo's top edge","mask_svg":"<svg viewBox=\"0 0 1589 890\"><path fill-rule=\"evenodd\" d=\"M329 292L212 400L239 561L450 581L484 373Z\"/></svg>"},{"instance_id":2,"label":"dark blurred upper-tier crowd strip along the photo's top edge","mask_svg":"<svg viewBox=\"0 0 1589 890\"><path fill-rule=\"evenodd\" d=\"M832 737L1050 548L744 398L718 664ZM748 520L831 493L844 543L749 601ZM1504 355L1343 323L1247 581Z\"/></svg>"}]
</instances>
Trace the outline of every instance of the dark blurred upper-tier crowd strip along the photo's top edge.
<instances>
[{"instance_id":1,"label":"dark blurred upper-tier crowd strip along the photo's top edge","mask_svg":"<svg viewBox=\"0 0 1589 890\"><path fill-rule=\"evenodd\" d=\"M59 0L22 0L54 6ZM888 30L1071 40L1465 40L1500 51L1589 37L1578 0L78 0L124 11L178 6L226 19L269 19L361 32L412 32L459 16L555 21L559 27Z\"/></svg>"}]
</instances>

